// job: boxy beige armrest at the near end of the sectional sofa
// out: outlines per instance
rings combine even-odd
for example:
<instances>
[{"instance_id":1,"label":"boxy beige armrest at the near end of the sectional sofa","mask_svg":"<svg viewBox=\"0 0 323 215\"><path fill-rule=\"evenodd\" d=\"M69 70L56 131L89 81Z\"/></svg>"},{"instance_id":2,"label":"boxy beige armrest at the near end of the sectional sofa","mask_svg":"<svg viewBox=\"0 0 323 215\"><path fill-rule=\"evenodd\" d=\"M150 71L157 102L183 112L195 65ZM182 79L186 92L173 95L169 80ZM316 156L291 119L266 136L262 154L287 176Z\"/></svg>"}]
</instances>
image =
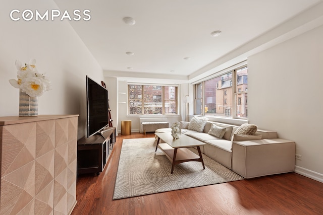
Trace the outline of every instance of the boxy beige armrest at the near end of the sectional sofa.
<instances>
[{"instance_id":1,"label":"boxy beige armrest at the near end of the sectional sofa","mask_svg":"<svg viewBox=\"0 0 323 215\"><path fill-rule=\"evenodd\" d=\"M271 138L234 141L232 170L244 178L293 172L295 142Z\"/></svg>"}]
</instances>

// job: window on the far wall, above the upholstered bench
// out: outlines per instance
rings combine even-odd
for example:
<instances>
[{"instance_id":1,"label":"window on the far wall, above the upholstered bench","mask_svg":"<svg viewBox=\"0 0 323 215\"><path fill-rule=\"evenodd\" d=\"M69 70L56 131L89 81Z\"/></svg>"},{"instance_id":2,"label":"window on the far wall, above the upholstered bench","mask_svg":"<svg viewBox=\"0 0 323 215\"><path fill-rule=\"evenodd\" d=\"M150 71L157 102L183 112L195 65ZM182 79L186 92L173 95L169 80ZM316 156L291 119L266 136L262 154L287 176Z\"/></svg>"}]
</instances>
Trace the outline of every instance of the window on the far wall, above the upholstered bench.
<instances>
[{"instance_id":1,"label":"window on the far wall, above the upholstered bench","mask_svg":"<svg viewBox=\"0 0 323 215\"><path fill-rule=\"evenodd\" d=\"M175 86L128 85L128 90L129 114L177 114Z\"/></svg>"}]
</instances>

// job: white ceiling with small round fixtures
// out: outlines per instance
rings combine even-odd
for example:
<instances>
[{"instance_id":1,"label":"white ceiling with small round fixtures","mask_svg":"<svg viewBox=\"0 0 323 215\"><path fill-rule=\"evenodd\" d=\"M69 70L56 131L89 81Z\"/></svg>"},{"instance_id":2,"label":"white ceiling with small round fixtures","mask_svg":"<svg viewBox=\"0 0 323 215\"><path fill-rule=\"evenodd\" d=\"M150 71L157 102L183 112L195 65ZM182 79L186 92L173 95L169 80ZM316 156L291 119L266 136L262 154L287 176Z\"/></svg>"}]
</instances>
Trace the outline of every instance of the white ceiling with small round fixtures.
<instances>
[{"instance_id":1,"label":"white ceiling with small round fixtures","mask_svg":"<svg viewBox=\"0 0 323 215\"><path fill-rule=\"evenodd\" d=\"M187 81L189 76L194 76L202 67L322 1L55 2L61 11L91 11L90 21L72 21L70 24L105 74L111 71L114 76L134 82L142 82L144 77L165 79L171 83L174 80ZM122 21L124 17L134 18L136 24L126 25ZM222 31L222 34L212 37L210 33L216 30ZM127 51L134 52L134 55L127 55ZM190 59L184 60L185 57Z\"/></svg>"}]
</instances>

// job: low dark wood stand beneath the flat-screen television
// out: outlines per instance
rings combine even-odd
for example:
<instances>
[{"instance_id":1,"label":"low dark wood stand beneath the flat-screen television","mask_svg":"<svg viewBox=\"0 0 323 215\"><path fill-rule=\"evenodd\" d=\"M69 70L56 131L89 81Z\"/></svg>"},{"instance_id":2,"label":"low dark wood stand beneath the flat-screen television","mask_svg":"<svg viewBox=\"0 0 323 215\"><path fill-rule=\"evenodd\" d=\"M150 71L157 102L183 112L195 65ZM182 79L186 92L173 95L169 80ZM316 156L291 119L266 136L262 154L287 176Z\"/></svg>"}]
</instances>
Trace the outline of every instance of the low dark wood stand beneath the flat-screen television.
<instances>
[{"instance_id":1,"label":"low dark wood stand beneath the flat-screen television","mask_svg":"<svg viewBox=\"0 0 323 215\"><path fill-rule=\"evenodd\" d=\"M116 142L116 128L104 130L77 141L77 174L96 173L104 170Z\"/></svg>"}]
</instances>

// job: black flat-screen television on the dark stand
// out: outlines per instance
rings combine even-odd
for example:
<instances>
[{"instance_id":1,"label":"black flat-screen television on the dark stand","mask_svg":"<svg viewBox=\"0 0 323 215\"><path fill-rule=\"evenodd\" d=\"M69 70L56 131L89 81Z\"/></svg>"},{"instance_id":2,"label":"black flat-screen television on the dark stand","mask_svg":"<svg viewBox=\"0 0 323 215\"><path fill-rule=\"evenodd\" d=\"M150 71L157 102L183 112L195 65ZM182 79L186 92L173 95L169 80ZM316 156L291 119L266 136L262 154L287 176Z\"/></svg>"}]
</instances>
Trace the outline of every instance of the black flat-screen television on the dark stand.
<instances>
[{"instance_id":1,"label":"black flat-screen television on the dark stand","mask_svg":"<svg viewBox=\"0 0 323 215\"><path fill-rule=\"evenodd\" d=\"M107 90L86 76L86 137L109 126L109 101L107 98Z\"/></svg>"}]
</instances>

